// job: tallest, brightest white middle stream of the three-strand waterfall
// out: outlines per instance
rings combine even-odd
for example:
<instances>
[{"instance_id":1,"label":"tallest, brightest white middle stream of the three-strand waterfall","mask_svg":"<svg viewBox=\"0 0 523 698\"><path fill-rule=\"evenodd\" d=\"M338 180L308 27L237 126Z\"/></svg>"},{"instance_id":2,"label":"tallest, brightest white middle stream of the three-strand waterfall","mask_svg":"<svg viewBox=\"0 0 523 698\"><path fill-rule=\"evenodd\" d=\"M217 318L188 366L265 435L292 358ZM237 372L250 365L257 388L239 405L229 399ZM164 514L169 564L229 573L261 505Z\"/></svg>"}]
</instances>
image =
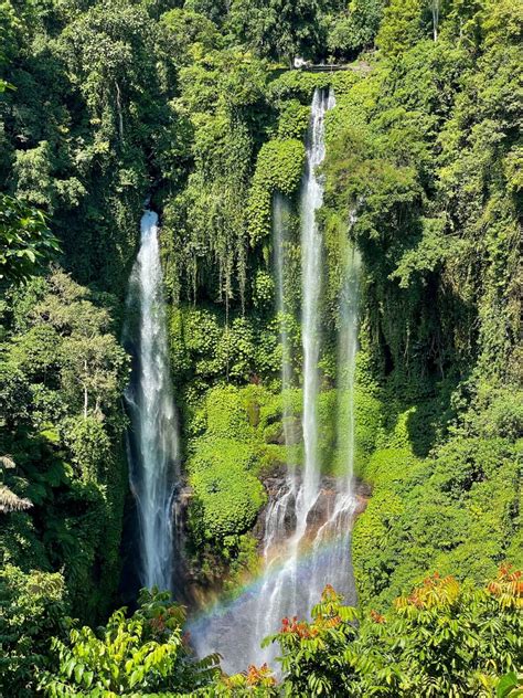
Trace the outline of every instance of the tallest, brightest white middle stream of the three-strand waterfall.
<instances>
[{"instance_id":1,"label":"tallest, brightest white middle stream of the three-strand waterfall","mask_svg":"<svg viewBox=\"0 0 523 698\"><path fill-rule=\"evenodd\" d=\"M308 519L320 494L321 468L318 454L318 362L320 358L320 319L319 306L321 298L321 265L322 240L316 214L323 201L323 182L318 173L318 167L325 156L324 117L334 106L332 91L325 93L314 91L311 107L309 135L307 140L307 165L301 186L301 337L303 348L303 409L302 431L305 446L305 462L301 476L290 473L288 487L281 490L280 500L273 504L273 510L278 517L266 520L267 541L273 535L270 525L279 525L288 516L288 507L293 505L296 527L286 544L276 557L265 547L266 573L259 594L259 605L263 609L263 622L257 624L258 642L265 635L275 632L278 623L286 615L307 614L309 611L309 594L321 593L321 589L307 588L300 583L303 562L300 557L308 543ZM276 218L276 216L275 216ZM268 530L267 530L267 527ZM273 537L275 537L273 535ZM279 569L278 569L279 565ZM323 562L309 558L306 563L307 574L324 567ZM275 573L274 568L278 569ZM316 574L318 577L318 574ZM260 615L260 614L258 614ZM265 649L263 659L271 659L275 647ZM259 656L259 651L258 651Z\"/></svg>"}]
</instances>

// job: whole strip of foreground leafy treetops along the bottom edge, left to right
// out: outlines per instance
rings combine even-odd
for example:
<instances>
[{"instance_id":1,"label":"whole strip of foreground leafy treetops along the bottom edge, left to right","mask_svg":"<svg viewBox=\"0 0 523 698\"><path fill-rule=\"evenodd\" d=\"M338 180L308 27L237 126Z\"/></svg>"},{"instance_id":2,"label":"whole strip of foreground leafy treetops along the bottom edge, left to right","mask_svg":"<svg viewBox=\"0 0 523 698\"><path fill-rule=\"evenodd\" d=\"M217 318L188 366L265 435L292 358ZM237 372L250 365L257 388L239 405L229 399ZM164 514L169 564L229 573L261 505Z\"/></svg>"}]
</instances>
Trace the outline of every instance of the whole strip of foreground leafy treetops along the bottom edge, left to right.
<instances>
[{"instance_id":1,"label":"whole strip of foreground leafy treetops along the bottom edge, left to right","mask_svg":"<svg viewBox=\"0 0 523 698\"><path fill-rule=\"evenodd\" d=\"M280 645L282 683L266 666L223 677L217 656L195 662L181 637L180 606L142 592L132 616L120 609L97 633L83 627L68 642L55 638L58 668L43 673L41 685L52 697L516 696L521 579L506 568L487 588L435 575L386 615L359 614L328 586L312 622L284 618L265 641Z\"/></svg>"}]
</instances>

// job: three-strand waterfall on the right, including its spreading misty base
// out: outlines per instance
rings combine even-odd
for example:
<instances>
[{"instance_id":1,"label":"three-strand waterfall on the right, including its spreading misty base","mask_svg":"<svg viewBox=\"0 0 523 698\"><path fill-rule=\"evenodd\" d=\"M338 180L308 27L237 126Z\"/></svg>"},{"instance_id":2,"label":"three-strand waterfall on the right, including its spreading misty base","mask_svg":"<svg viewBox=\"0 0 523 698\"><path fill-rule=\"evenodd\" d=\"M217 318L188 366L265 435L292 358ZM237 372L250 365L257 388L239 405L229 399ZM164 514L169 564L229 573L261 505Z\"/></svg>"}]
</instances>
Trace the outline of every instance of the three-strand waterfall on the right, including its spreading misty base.
<instances>
[{"instance_id":1,"label":"three-strand waterfall on the right, including its spreading misty base","mask_svg":"<svg viewBox=\"0 0 523 698\"><path fill-rule=\"evenodd\" d=\"M316 214L323 199L323 182L318 174L318 166L325 154L324 117L334 104L332 92L314 92L307 140L307 166L301 187L303 465L298 469L291 463L286 464L284 484L267 505L262 577L236 600L217 603L190 624L196 652L202 656L218 652L223 656L224 669L231 673L245 669L252 663L259 665L264 662L269 662L277 670L274 659L278 648L275 645L262 648L262 639L277 632L285 616L307 617L325 584L330 583L343 593L348 603L354 601L350 553L352 521L356 509L352 480L359 256L354 252L349 254L345 284L340 298L338 443L343 454L343 467L337 478L329 478L328 486L322 483L322 464L318 453L322 240ZM286 200L276 194L273 203L274 267L282 345L282 436L288 445L290 434L287 424L291 413L285 391L292 382L292 366L285 325L286 211Z\"/></svg>"}]
</instances>

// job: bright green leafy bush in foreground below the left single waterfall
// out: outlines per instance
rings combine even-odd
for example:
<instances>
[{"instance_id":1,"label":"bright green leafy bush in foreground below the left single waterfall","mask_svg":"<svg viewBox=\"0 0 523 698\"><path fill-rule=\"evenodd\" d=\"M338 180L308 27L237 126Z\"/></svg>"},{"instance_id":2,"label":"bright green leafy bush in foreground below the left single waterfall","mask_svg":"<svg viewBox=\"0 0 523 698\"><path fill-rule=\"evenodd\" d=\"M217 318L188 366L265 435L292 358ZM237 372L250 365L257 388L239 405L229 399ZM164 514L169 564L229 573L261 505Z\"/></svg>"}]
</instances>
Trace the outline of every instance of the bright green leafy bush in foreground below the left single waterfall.
<instances>
[{"instance_id":1,"label":"bright green leafy bush in foreground below the left single waterfall","mask_svg":"<svg viewBox=\"0 0 523 698\"><path fill-rule=\"evenodd\" d=\"M116 611L105 628L73 630L66 644L54 639L55 673L42 676L45 695L137 696L184 691L207 683L217 657L196 662L182 641L184 611L169 593L142 590L140 606L127 617Z\"/></svg>"}]
</instances>

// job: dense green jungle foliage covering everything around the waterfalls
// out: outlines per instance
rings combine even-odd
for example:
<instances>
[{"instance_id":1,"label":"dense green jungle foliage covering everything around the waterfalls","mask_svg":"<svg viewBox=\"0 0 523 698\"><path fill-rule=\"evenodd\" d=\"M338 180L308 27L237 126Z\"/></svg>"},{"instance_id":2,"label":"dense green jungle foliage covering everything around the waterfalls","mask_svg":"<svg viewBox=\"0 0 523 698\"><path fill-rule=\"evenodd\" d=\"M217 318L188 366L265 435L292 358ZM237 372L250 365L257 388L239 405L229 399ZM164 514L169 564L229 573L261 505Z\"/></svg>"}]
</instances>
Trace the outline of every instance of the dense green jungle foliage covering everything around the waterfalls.
<instances>
[{"instance_id":1,"label":"dense green jungle foliage covering everything around the waterfalls","mask_svg":"<svg viewBox=\"0 0 523 698\"><path fill-rule=\"evenodd\" d=\"M0 3L0 694L519 695L522 28L521 0ZM349 70L289 70L297 56ZM303 457L299 437L281 445L282 414L288 400L299 433L299 187L328 85L320 450L334 473L356 244L359 609L327 590L275 637L281 681L227 678L191 656L166 595L107 621L132 516L126 285L151 197L186 554L202 589L234 590L257 568L264 478ZM288 395L275 192L290 211Z\"/></svg>"}]
</instances>

